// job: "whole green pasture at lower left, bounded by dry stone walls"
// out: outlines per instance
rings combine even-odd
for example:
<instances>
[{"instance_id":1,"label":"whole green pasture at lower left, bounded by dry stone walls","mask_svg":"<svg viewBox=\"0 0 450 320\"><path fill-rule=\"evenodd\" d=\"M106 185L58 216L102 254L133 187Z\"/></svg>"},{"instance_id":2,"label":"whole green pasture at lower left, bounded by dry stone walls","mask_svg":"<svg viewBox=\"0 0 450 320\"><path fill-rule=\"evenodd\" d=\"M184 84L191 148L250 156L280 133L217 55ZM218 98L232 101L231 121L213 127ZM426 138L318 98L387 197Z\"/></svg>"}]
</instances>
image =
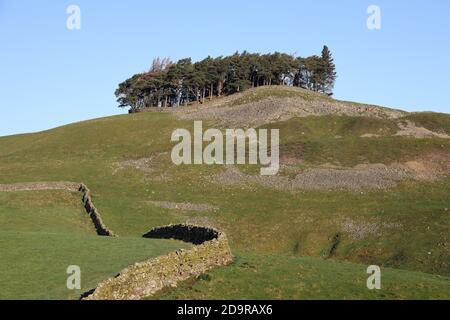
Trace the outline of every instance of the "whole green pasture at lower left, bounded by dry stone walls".
<instances>
[{"instance_id":1,"label":"whole green pasture at lower left, bounded by dry stone walls","mask_svg":"<svg viewBox=\"0 0 450 320\"><path fill-rule=\"evenodd\" d=\"M134 262L186 247L99 237L78 193L0 193L0 203L0 299L78 299ZM82 290L66 288L69 265L80 266Z\"/></svg>"}]
</instances>

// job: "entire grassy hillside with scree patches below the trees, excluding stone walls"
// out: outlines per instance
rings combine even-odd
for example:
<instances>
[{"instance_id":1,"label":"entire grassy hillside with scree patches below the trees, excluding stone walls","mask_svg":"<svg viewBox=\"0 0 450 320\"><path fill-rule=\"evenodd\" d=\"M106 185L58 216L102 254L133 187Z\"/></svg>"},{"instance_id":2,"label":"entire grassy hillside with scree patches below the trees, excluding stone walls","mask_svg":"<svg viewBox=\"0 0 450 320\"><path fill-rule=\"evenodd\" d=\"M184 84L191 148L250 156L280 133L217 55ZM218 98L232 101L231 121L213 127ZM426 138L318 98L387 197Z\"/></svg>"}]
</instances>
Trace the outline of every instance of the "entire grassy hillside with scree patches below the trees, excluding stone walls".
<instances>
[{"instance_id":1,"label":"entire grassy hillside with scree patches below the trees, excluding stone walls","mask_svg":"<svg viewBox=\"0 0 450 320\"><path fill-rule=\"evenodd\" d=\"M279 128L280 173L173 165L172 132L192 131L199 119L204 127ZM127 265L183 246L141 239L151 228L193 223L223 230L237 259L159 298L449 299L449 128L448 114L272 86L169 112L0 137L0 184L83 182L119 235L95 236L70 192L0 192L0 250L7 257L0 280L8 279L2 298L77 298L54 287L65 284L66 264L92 269L83 284L92 288ZM18 286L48 261L54 266L40 273L46 294L33 281ZM365 288L371 264L386 268L379 293ZM215 290L223 283L229 290Z\"/></svg>"}]
</instances>

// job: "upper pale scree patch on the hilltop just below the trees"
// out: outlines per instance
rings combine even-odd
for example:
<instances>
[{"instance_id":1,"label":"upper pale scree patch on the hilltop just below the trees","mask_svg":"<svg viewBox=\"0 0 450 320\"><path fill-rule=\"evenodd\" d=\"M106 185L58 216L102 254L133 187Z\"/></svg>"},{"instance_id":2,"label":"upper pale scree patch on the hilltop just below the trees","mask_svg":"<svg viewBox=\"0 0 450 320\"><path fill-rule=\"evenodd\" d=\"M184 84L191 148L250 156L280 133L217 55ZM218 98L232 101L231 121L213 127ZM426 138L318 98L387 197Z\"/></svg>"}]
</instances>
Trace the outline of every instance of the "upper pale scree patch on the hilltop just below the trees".
<instances>
[{"instance_id":1,"label":"upper pale scree patch on the hilltop just below the trees","mask_svg":"<svg viewBox=\"0 0 450 320\"><path fill-rule=\"evenodd\" d=\"M229 128L259 127L293 117L330 114L390 119L397 119L406 114L406 112L400 110L333 100L319 94L315 94L314 98L306 98L302 96L302 89L286 87L279 87L278 90L281 90L281 92L292 91L297 95L292 94L287 97L266 96L261 100L246 102L245 97L258 90L266 89L252 89L234 95L235 97L224 98L224 100L180 108L175 110L175 114L182 119L214 120L219 125ZM238 101L242 101L242 104L238 104Z\"/></svg>"}]
</instances>

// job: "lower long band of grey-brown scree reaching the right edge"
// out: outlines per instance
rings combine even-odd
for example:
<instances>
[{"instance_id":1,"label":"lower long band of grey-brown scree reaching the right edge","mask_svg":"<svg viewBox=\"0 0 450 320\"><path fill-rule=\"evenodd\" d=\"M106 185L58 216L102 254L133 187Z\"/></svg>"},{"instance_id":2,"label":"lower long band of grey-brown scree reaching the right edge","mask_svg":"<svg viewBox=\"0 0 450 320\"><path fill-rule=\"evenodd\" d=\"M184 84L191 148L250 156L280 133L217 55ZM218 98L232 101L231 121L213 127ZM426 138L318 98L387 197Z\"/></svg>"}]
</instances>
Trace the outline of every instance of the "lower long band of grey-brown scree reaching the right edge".
<instances>
[{"instance_id":1,"label":"lower long band of grey-brown scree reaching the right edge","mask_svg":"<svg viewBox=\"0 0 450 320\"><path fill-rule=\"evenodd\" d=\"M293 179L285 176L249 175L235 166L227 166L225 171L207 177L221 185L260 185L283 191L297 189L386 189L394 187L404 179L430 181L450 173L448 155L427 155L405 163L360 164L353 168L317 167L298 173Z\"/></svg>"}]
</instances>

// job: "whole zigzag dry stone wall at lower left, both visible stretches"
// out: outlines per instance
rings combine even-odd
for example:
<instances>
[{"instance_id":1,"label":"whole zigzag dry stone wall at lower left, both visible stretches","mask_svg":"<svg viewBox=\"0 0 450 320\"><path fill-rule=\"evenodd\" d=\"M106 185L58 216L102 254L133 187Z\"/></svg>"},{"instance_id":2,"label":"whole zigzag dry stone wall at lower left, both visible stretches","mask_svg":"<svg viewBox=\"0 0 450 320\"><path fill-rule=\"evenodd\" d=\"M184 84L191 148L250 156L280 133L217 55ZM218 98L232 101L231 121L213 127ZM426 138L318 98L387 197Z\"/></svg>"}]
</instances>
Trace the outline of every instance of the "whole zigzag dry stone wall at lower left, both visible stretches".
<instances>
[{"instance_id":1,"label":"whole zigzag dry stone wall at lower left, both visible stretches","mask_svg":"<svg viewBox=\"0 0 450 320\"><path fill-rule=\"evenodd\" d=\"M24 190L68 190L81 192L83 205L97 234L115 236L103 223L92 202L89 188L74 182L36 182L0 185L0 192ZM180 281L198 277L204 272L230 264L233 255L224 233L195 225L170 225L154 228L143 235L151 239L175 239L194 244L191 249L178 250L167 255L136 263L114 278L101 282L95 289L82 295L86 300L137 300L149 297L164 288L175 287Z\"/></svg>"}]
</instances>

